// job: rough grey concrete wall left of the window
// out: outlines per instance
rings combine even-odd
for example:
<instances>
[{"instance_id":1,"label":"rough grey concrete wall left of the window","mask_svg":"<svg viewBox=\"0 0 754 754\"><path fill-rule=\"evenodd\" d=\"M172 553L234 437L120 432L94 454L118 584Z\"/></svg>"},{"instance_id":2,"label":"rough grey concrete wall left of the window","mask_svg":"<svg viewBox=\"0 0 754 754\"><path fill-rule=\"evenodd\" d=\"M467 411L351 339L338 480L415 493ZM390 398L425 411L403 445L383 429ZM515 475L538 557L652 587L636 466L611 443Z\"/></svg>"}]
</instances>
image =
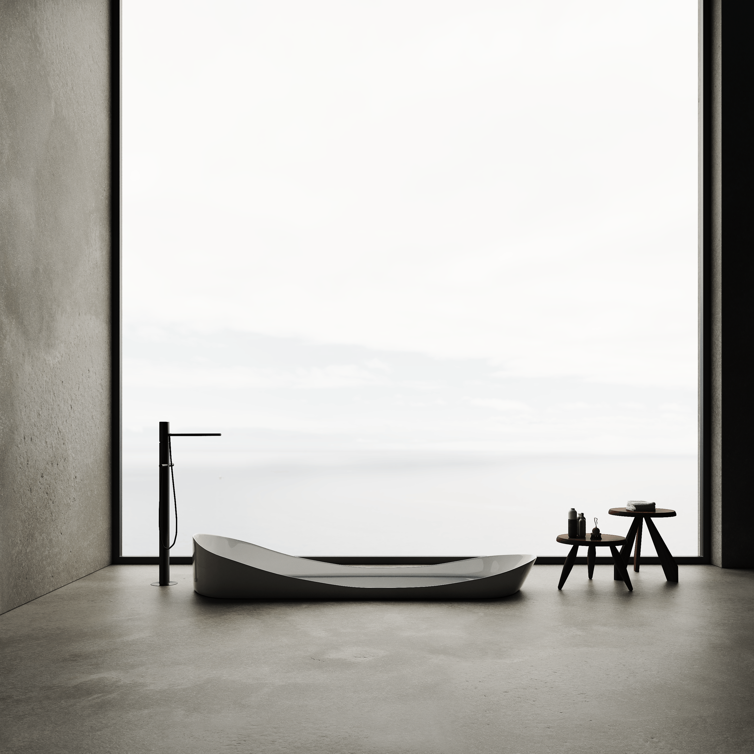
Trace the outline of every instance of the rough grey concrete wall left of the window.
<instances>
[{"instance_id":1,"label":"rough grey concrete wall left of the window","mask_svg":"<svg viewBox=\"0 0 754 754\"><path fill-rule=\"evenodd\" d=\"M110 562L109 5L0 0L0 612Z\"/></svg>"}]
</instances>

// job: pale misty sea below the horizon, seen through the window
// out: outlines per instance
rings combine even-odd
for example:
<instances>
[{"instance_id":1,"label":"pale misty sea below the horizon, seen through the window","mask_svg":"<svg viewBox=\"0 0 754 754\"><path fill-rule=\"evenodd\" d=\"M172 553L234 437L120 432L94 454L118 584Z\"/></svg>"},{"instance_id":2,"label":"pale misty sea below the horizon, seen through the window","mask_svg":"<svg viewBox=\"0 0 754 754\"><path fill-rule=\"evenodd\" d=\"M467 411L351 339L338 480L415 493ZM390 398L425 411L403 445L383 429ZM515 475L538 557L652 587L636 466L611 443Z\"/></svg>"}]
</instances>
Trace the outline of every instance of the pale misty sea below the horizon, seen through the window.
<instances>
[{"instance_id":1,"label":"pale misty sea below the horizon, seen through the window","mask_svg":"<svg viewBox=\"0 0 754 754\"><path fill-rule=\"evenodd\" d=\"M565 555L555 538L570 507L589 529L597 517L602 532L624 535L629 522L608 509L631 499L676 510L661 534L675 555L698 552L695 455L330 449L246 458L176 452L173 555L190 556L195 533L304 556ZM124 555L158 554L157 481L156 464L124 458ZM651 538L642 552L655 554Z\"/></svg>"}]
</instances>

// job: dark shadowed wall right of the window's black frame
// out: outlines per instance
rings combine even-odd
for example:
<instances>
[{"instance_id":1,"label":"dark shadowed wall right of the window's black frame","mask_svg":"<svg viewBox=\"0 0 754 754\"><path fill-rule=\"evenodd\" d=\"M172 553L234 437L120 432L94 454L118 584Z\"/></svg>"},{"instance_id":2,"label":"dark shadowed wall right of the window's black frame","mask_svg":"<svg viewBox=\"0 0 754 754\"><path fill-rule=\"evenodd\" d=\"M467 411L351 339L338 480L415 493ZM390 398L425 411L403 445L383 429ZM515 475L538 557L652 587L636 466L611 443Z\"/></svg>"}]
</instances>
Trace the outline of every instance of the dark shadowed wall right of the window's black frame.
<instances>
[{"instance_id":1,"label":"dark shadowed wall right of the window's black frame","mask_svg":"<svg viewBox=\"0 0 754 754\"><path fill-rule=\"evenodd\" d=\"M706 3L712 26L712 562L754 568L751 32L747 3Z\"/></svg>"}]
</instances>

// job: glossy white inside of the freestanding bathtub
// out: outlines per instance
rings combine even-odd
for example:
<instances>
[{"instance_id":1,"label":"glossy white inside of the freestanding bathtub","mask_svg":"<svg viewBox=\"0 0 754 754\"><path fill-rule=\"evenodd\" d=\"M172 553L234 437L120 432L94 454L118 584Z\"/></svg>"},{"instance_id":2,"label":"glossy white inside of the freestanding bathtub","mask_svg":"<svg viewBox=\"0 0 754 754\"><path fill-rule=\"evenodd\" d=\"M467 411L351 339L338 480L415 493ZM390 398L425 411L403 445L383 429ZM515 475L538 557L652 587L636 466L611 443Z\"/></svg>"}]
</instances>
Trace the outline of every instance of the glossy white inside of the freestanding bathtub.
<instances>
[{"instance_id":1,"label":"glossy white inside of the freestanding bathtub","mask_svg":"<svg viewBox=\"0 0 754 754\"><path fill-rule=\"evenodd\" d=\"M196 544L217 556L256 569L320 584L349 587L431 587L495 576L526 565L534 555L493 555L432 566L342 566L278 553L238 539L194 535Z\"/></svg>"}]
</instances>

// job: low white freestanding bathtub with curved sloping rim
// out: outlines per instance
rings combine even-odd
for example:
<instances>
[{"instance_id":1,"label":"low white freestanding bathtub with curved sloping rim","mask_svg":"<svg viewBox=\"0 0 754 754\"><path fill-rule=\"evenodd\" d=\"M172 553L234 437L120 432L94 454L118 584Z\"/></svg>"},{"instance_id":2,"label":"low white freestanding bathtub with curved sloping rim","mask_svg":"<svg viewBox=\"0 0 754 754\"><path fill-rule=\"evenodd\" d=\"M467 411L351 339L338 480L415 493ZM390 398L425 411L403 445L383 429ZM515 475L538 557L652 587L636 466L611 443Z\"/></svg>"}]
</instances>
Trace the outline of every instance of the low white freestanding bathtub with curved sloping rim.
<instances>
[{"instance_id":1,"label":"low white freestanding bathtub with curved sloping rim","mask_svg":"<svg viewBox=\"0 0 754 754\"><path fill-rule=\"evenodd\" d=\"M225 599L484 599L520 590L534 555L434 566L340 566L250 542L194 535L194 590Z\"/></svg>"}]
</instances>

